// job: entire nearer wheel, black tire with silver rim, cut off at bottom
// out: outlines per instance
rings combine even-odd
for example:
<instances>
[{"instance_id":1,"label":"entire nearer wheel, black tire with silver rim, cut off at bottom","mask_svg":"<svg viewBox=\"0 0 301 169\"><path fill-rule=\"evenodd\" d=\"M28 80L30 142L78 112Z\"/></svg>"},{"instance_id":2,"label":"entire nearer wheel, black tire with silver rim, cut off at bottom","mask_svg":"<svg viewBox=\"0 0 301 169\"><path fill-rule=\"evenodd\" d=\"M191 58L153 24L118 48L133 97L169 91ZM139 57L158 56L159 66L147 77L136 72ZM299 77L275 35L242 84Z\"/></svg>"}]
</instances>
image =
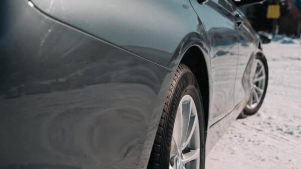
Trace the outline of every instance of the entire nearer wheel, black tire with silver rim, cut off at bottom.
<instances>
[{"instance_id":1,"label":"entire nearer wheel, black tire with silver rim, cut off at bottom","mask_svg":"<svg viewBox=\"0 0 301 169\"><path fill-rule=\"evenodd\" d=\"M205 127L200 89L180 64L165 102L149 169L204 169Z\"/></svg>"}]
</instances>

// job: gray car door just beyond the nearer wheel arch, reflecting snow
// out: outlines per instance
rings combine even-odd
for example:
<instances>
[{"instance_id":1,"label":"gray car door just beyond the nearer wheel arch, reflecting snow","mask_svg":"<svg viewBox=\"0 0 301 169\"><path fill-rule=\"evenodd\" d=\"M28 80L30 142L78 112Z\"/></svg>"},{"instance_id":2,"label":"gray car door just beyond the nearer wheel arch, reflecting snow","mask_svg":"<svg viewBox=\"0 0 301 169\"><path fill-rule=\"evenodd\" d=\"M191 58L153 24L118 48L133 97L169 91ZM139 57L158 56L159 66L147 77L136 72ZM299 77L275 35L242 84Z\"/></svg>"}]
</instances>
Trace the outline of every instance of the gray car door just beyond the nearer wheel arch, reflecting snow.
<instances>
[{"instance_id":1,"label":"gray car door just beyond the nearer wheel arch, reflecting snow","mask_svg":"<svg viewBox=\"0 0 301 169\"><path fill-rule=\"evenodd\" d=\"M212 102L209 123L212 124L234 108L238 61L234 6L226 0L209 0L203 4L198 0L191 0L191 3L201 19L210 46Z\"/></svg>"}]
</instances>

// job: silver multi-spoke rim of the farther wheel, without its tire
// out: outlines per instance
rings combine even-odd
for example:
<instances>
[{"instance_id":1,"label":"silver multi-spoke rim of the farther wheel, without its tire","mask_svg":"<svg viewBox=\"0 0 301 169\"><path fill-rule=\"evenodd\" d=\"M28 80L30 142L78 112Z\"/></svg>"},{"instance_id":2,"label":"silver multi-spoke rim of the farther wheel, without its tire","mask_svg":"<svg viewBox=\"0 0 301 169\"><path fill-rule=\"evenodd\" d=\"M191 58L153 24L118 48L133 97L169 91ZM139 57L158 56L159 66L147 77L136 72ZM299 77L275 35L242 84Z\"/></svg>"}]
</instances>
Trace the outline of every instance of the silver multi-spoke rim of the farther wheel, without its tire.
<instances>
[{"instance_id":1,"label":"silver multi-spoke rim of the farther wheel, without its tire","mask_svg":"<svg viewBox=\"0 0 301 169\"><path fill-rule=\"evenodd\" d=\"M256 70L252 79L251 93L247 108L253 109L260 102L265 87L265 69L261 60L255 59Z\"/></svg>"}]
</instances>

